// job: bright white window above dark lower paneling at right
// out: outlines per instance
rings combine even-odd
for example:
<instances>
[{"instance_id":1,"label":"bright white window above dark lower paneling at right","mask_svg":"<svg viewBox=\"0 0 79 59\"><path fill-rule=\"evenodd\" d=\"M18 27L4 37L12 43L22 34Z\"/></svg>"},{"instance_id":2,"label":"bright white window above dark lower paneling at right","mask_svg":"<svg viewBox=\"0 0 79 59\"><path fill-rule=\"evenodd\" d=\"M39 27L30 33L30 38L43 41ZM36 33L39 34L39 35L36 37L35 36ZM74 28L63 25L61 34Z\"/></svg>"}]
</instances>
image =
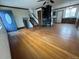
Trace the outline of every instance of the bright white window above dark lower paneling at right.
<instances>
[{"instance_id":1,"label":"bright white window above dark lower paneling at right","mask_svg":"<svg viewBox=\"0 0 79 59\"><path fill-rule=\"evenodd\" d=\"M77 8L69 7L65 11L65 18L76 17Z\"/></svg>"}]
</instances>

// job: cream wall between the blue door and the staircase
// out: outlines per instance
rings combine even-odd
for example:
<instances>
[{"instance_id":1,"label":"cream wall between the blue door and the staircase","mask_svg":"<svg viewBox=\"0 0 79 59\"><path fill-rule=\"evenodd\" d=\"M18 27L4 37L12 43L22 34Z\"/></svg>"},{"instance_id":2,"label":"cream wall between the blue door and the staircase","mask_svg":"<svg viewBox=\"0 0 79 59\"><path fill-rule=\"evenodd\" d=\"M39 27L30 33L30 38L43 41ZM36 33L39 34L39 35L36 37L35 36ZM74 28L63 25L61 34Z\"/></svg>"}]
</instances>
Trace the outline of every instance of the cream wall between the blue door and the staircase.
<instances>
[{"instance_id":1,"label":"cream wall between the blue door and the staircase","mask_svg":"<svg viewBox=\"0 0 79 59\"><path fill-rule=\"evenodd\" d=\"M28 10L0 7L0 10L12 10L17 27L24 27L23 18L28 17Z\"/></svg>"}]
</instances>

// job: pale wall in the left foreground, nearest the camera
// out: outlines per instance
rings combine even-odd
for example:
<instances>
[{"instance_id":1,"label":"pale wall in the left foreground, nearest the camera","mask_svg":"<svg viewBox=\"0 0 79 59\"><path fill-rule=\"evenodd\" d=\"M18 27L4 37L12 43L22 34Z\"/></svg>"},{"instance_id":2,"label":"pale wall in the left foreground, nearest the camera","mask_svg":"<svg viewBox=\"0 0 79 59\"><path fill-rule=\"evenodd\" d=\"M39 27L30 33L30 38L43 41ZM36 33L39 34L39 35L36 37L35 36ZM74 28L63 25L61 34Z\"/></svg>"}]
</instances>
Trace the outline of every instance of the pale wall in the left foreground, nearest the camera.
<instances>
[{"instance_id":1,"label":"pale wall in the left foreground, nearest the camera","mask_svg":"<svg viewBox=\"0 0 79 59\"><path fill-rule=\"evenodd\" d=\"M2 26L2 28L1 28ZM11 59L7 33L0 19L0 59Z\"/></svg>"}]
</instances>

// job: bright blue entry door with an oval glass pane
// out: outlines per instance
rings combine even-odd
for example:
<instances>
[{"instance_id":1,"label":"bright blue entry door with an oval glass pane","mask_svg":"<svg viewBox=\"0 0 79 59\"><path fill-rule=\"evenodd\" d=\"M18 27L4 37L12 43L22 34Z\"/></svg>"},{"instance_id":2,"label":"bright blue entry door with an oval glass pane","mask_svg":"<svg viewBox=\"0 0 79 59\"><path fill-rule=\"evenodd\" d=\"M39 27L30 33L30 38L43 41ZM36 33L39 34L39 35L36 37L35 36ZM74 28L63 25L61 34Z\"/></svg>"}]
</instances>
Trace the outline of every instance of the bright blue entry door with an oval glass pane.
<instances>
[{"instance_id":1,"label":"bright blue entry door with an oval glass pane","mask_svg":"<svg viewBox=\"0 0 79 59\"><path fill-rule=\"evenodd\" d=\"M14 21L14 16L11 11L0 10L0 17L7 32L16 31L17 26Z\"/></svg>"}]
</instances>

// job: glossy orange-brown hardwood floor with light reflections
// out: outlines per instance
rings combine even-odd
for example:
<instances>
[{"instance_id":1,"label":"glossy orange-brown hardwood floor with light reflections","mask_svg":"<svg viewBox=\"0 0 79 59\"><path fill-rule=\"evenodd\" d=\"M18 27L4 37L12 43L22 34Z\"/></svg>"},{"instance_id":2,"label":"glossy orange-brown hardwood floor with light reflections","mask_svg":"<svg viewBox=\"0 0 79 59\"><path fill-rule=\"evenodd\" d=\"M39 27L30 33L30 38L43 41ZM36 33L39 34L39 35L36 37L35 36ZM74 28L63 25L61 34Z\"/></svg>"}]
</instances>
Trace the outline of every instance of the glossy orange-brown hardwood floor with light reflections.
<instances>
[{"instance_id":1,"label":"glossy orange-brown hardwood floor with light reflections","mask_svg":"<svg viewBox=\"0 0 79 59\"><path fill-rule=\"evenodd\" d=\"M74 25L21 29L9 33L13 59L79 59L79 31Z\"/></svg>"}]
</instances>

